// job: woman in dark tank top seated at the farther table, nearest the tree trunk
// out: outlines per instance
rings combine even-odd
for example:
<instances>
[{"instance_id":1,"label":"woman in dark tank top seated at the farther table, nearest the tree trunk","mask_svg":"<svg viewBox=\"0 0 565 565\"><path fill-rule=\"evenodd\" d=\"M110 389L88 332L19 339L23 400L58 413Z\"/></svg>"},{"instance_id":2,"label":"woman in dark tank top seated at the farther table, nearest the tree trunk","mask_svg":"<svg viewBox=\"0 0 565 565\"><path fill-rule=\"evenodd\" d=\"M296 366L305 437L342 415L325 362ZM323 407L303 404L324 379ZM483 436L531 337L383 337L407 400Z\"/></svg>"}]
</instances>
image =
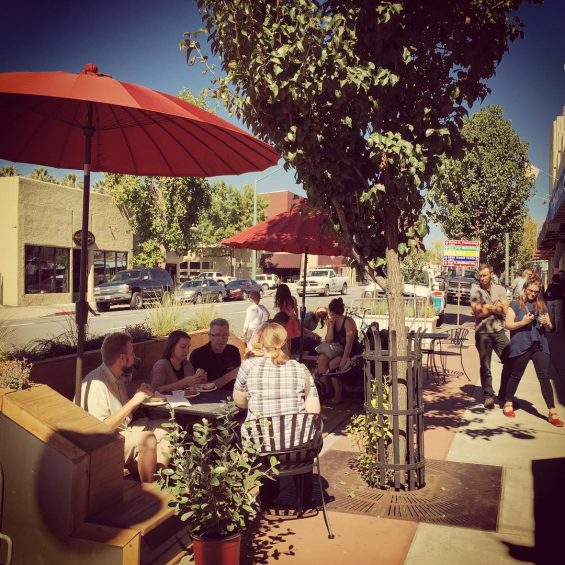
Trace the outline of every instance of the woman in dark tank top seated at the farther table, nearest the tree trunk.
<instances>
[{"instance_id":1,"label":"woman in dark tank top seated at the farther table, nearest the tree trunk","mask_svg":"<svg viewBox=\"0 0 565 565\"><path fill-rule=\"evenodd\" d=\"M321 352L318 356L318 374L321 375L322 382L327 387L331 377L328 371L335 369L344 371L349 366L351 357L363 351L355 321L345 315L345 305L341 297L334 298L329 304L328 329L324 341L333 344L331 352ZM334 396L328 401L328 404L339 404L343 386L336 377L331 377L331 383Z\"/></svg>"}]
</instances>

